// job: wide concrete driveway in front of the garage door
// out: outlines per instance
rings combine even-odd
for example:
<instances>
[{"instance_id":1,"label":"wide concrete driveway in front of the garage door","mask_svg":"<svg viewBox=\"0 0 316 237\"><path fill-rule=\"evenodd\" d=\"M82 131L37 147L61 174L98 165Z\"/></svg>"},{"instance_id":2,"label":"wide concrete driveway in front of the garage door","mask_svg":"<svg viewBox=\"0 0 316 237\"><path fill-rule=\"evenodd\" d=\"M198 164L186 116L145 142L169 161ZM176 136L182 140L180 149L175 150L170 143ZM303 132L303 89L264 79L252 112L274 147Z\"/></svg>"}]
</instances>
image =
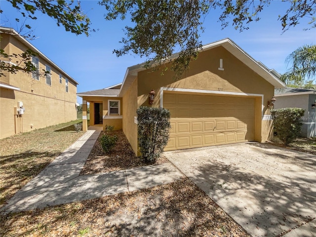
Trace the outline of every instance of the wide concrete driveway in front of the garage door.
<instances>
[{"instance_id":1,"label":"wide concrete driveway in front of the garage door","mask_svg":"<svg viewBox=\"0 0 316 237\"><path fill-rule=\"evenodd\" d=\"M316 236L316 156L260 143L164 155L253 237Z\"/></svg>"}]
</instances>

